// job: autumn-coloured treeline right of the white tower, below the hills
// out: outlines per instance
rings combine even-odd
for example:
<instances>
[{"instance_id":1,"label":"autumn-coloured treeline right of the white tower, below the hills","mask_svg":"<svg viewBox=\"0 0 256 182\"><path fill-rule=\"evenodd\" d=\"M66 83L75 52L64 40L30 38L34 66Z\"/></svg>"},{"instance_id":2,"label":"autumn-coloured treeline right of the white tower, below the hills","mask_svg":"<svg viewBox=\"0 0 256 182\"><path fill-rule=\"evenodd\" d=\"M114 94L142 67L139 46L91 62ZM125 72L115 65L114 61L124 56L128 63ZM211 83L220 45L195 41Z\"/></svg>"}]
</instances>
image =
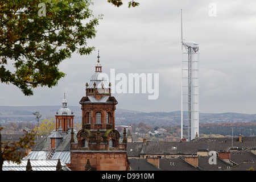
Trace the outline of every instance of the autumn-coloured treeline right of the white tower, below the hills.
<instances>
[{"instance_id":1,"label":"autumn-coloured treeline right of the white tower, below the hills","mask_svg":"<svg viewBox=\"0 0 256 182\"><path fill-rule=\"evenodd\" d=\"M205 123L200 124L199 131L203 134L220 134L239 136L255 136L256 123Z\"/></svg>"}]
</instances>

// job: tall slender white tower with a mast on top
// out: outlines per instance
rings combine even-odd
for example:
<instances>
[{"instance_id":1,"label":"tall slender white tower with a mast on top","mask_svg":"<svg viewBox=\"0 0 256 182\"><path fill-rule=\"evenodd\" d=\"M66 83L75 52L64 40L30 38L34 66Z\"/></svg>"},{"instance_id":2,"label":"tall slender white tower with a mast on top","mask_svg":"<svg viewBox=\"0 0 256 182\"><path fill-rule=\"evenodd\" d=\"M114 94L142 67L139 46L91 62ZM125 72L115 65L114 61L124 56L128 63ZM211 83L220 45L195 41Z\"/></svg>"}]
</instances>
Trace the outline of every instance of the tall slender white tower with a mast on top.
<instances>
[{"instance_id":1,"label":"tall slender white tower with a mast on top","mask_svg":"<svg viewBox=\"0 0 256 182\"><path fill-rule=\"evenodd\" d=\"M199 44L183 41L182 10L181 44L181 139L190 141L199 135Z\"/></svg>"}]
</instances>

